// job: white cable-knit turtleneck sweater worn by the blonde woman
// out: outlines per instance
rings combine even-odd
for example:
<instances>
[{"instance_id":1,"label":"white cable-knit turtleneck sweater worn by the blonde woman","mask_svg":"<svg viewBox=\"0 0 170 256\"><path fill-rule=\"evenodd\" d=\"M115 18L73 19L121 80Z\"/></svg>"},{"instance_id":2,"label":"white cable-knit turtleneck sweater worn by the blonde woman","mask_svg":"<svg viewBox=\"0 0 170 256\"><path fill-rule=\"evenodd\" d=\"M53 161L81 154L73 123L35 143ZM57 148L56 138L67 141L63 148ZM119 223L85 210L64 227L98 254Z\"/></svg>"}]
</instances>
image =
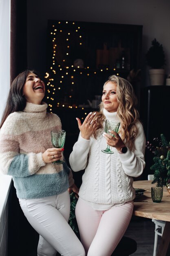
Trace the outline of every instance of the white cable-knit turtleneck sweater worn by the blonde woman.
<instances>
[{"instance_id":1,"label":"white cable-knit turtleneck sweater worn by the blonde woman","mask_svg":"<svg viewBox=\"0 0 170 256\"><path fill-rule=\"evenodd\" d=\"M106 119L119 121L117 112L110 113L104 109ZM122 204L135 198L132 186L133 177L138 177L145 167L144 153L146 139L140 121L137 121L137 137L135 148L129 148L125 154L103 153L107 147L106 139L102 136L103 128L98 130L97 139L93 136L83 139L81 134L73 146L69 162L73 171L85 169L82 185L79 190L80 198L98 204ZM128 145L126 145L128 147Z\"/></svg>"}]
</instances>

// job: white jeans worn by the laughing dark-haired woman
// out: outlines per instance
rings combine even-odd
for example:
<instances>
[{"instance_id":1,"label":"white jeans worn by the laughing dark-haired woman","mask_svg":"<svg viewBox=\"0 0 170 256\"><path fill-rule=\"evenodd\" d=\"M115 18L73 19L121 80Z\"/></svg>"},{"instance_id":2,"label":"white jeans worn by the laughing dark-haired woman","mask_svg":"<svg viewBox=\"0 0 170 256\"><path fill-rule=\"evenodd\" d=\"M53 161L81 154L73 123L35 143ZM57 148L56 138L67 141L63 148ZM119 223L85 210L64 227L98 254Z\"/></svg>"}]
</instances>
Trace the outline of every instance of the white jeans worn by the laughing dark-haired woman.
<instances>
[{"instance_id":1,"label":"white jeans worn by the laughing dark-haired woman","mask_svg":"<svg viewBox=\"0 0 170 256\"><path fill-rule=\"evenodd\" d=\"M85 256L84 248L68 225L70 196L68 191L39 199L19 199L31 226L40 234L38 256Z\"/></svg>"}]
</instances>

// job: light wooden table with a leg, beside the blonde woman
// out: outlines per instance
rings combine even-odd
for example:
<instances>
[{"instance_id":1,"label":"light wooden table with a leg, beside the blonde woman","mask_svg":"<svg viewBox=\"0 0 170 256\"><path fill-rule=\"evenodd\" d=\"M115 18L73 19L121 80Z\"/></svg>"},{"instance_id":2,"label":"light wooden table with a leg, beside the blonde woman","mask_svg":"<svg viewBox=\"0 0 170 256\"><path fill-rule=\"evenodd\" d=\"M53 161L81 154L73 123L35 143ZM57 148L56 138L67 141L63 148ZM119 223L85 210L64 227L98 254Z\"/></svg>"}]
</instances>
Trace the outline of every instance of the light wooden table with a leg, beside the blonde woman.
<instances>
[{"instance_id":1,"label":"light wooden table with a leg, beside the blonde woman","mask_svg":"<svg viewBox=\"0 0 170 256\"><path fill-rule=\"evenodd\" d=\"M133 182L134 188L146 190L143 196L134 200L133 215L166 221L157 256L170 256L170 194L166 188L163 188L162 201L160 203L152 202L151 186L156 185L151 182L150 180Z\"/></svg>"}]
</instances>

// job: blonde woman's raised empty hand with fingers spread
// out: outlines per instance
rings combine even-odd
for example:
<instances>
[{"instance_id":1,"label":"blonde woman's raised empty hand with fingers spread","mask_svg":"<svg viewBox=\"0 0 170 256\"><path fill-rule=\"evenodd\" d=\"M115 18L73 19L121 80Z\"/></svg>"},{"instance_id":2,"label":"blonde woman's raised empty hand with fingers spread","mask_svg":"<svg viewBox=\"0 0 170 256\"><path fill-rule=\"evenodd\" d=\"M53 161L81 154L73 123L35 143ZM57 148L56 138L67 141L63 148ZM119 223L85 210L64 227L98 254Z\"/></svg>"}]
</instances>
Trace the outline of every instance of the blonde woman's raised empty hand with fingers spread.
<instances>
[{"instance_id":1,"label":"blonde woman's raised empty hand with fingers spread","mask_svg":"<svg viewBox=\"0 0 170 256\"><path fill-rule=\"evenodd\" d=\"M90 139L91 135L93 134L95 128L96 128L96 121L93 120L93 118L95 117L96 112L94 112L92 114L92 112L90 112L87 117L84 119L83 124L81 123L80 119L76 117L78 126L79 126L79 130L81 132L81 136L84 139Z\"/></svg>"}]
</instances>

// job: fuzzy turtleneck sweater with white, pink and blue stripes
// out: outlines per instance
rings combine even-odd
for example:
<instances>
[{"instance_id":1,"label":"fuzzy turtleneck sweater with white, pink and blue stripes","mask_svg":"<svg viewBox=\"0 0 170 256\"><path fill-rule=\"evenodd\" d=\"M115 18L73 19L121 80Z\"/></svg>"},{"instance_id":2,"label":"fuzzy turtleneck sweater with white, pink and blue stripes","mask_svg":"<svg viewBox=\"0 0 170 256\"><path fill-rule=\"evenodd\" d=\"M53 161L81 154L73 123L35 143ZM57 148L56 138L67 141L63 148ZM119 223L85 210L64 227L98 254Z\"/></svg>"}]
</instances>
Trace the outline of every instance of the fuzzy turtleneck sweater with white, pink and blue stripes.
<instances>
[{"instance_id":1,"label":"fuzzy turtleneck sweater with white, pink and blue stripes","mask_svg":"<svg viewBox=\"0 0 170 256\"><path fill-rule=\"evenodd\" d=\"M53 148L50 131L62 128L60 118L46 108L46 103L27 102L0 129L0 171L12 176L18 198L57 195L74 183L66 162L46 164L42 159L42 153Z\"/></svg>"}]
</instances>

